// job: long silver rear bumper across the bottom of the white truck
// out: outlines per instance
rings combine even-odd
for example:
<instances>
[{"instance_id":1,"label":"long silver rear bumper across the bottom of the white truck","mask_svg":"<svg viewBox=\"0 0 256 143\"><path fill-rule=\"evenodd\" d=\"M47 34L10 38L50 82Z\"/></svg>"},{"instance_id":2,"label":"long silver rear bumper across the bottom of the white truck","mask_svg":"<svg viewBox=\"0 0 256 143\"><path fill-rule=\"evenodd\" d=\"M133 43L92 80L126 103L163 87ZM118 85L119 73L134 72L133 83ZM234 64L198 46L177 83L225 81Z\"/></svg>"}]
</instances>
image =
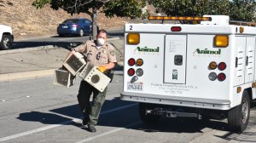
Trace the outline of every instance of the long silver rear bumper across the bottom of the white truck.
<instances>
[{"instance_id":1,"label":"long silver rear bumper across the bottom of the white truck","mask_svg":"<svg viewBox=\"0 0 256 143\"><path fill-rule=\"evenodd\" d=\"M203 109L230 110L230 100L208 100L187 97L174 97L157 94L121 93L121 100L170 105L188 106Z\"/></svg>"}]
</instances>

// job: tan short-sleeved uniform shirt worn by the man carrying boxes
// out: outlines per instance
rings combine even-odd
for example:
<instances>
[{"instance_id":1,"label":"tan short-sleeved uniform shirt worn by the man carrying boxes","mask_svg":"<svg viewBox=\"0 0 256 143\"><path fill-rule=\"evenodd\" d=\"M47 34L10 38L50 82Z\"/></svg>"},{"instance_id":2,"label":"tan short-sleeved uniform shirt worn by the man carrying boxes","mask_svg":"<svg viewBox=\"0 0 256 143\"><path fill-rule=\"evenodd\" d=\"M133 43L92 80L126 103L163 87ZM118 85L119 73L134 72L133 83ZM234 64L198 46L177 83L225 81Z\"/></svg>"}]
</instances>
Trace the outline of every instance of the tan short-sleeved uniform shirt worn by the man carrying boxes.
<instances>
[{"instance_id":1,"label":"tan short-sleeved uniform shirt worn by the man carrying boxes","mask_svg":"<svg viewBox=\"0 0 256 143\"><path fill-rule=\"evenodd\" d=\"M109 62L117 62L113 46L108 43L104 44L102 48L97 49L96 43L87 41L74 48L74 50L84 53L87 59L86 62L89 62L94 66L105 65Z\"/></svg>"}]
</instances>

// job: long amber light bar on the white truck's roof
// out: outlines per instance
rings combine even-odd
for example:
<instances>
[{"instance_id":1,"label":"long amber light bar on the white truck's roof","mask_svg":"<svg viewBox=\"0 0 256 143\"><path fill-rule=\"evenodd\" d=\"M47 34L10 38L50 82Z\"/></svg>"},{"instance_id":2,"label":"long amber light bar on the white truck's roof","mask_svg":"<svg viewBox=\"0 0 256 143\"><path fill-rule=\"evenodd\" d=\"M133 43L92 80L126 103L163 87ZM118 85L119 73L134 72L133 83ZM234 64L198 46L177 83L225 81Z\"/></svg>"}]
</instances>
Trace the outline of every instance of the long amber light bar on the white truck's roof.
<instances>
[{"instance_id":1,"label":"long amber light bar on the white truck's roof","mask_svg":"<svg viewBox=\"0 0 256 143\"><path fill-rule=\"evenodd\" d=\"M211 21L211 17L177 17L177 16L148 16L148 20L201 20Z\"/></svg>"}]
</instances>

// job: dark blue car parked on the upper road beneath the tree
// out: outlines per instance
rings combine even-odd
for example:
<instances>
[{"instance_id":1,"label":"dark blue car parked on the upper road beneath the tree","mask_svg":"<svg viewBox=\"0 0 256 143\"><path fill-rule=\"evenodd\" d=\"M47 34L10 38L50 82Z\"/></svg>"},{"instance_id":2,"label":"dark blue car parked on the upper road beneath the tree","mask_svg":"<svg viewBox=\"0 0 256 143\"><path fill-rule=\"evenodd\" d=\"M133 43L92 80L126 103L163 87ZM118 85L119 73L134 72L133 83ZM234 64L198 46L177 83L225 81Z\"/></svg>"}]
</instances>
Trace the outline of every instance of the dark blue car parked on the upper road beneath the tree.
<instances>
[{"instance_id":1,"label":"dark blue car parked on the upper road beneath the tree","mask_svg":"<svg viewBox=\"0 0 256 143\"><path fill-rule=\"evenodd\" d=\"M90 35L92 22L87 19L68 19L62 22L58 28L57 33L60 37L65 35Z\"/></svg>"}]
</instances>

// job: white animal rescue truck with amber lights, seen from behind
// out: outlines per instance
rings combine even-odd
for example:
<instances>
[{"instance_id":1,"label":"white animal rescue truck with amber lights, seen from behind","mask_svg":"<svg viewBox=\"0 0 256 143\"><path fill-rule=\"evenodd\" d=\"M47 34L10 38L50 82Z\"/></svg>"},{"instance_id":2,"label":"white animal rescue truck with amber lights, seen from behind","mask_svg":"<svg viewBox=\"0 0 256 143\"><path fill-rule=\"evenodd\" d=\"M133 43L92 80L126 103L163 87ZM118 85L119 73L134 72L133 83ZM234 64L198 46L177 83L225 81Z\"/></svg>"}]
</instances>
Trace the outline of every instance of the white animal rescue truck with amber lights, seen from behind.
<instances>
[{"instance_id":1,"label":"white animal rescue truck with amber lights, seen from behind","mask_svg":"<svg viewBox=\"0 0 256 143\"><path fill-rule=\"evenodd\" d=\"M148 20L187 24L125 24L121 99L139 102L144 123L227 118L232 131L246 129L256 99L256 24L225 15Z\"/></svg>"}]
</instances>

